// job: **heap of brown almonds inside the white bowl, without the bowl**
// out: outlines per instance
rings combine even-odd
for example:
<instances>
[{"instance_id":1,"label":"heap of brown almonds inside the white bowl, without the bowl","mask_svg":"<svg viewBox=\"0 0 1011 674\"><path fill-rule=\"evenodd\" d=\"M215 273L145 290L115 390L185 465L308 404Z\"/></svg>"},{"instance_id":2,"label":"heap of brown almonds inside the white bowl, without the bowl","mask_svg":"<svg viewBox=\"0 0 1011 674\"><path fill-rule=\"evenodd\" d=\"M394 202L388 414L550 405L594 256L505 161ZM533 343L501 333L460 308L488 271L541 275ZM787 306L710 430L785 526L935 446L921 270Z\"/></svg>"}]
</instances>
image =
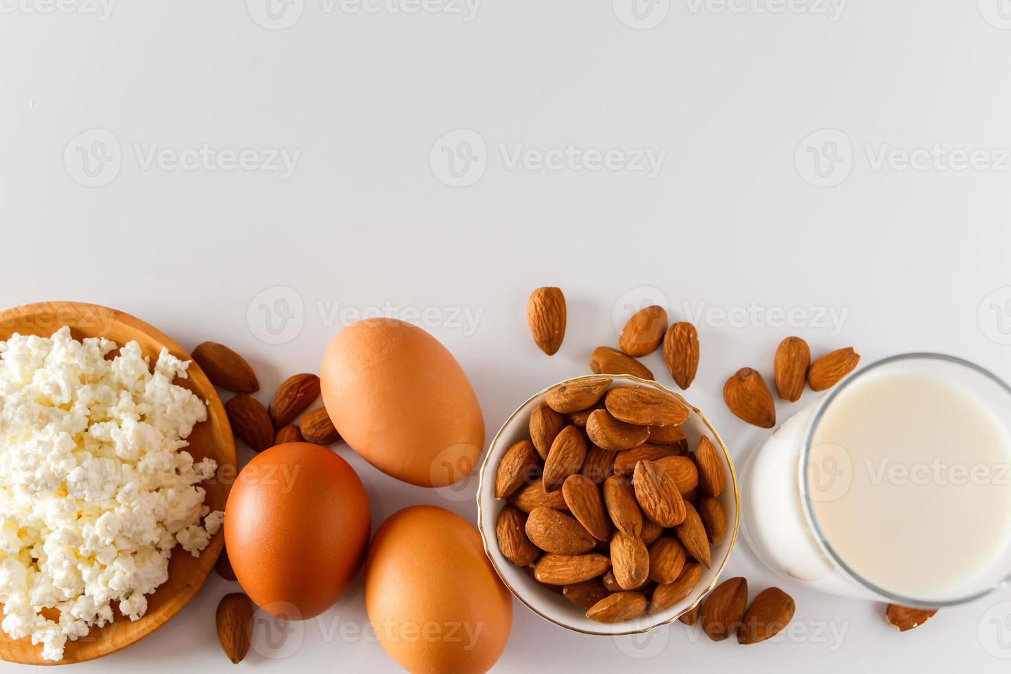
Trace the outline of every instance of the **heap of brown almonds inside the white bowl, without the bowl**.
<instances>
[{"instance_id":1,"label":"heap of brown almonds inside the white bowl, without the bowl","mask_svg":"<svg viewBox=\"0 0 1011 674\"><path fill-rule=\"evenodd\" d=\"M590 377L550 391L495 473L507 559L601 622L686 597L727 531L726 475L688 407L664 391Z\"/></svg>"}]
</instances>

